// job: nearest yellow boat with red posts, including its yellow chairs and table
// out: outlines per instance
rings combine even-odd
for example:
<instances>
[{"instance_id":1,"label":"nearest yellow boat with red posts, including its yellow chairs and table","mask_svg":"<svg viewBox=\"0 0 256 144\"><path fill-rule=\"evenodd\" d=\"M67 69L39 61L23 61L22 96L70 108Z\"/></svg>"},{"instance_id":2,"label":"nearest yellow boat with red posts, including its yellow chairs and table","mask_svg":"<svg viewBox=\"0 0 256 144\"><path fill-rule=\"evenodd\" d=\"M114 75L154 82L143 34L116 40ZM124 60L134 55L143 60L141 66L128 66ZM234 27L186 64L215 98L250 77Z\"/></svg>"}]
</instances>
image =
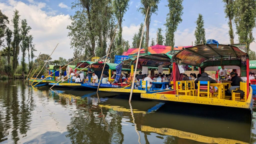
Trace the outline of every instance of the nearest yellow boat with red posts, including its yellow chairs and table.
<instances>
[{"instance_id":1,"label":"nearest yellow boat with red posts, including its yellow chairs and table","mask_svg":"<svg viewBox=\"0 0 256 144\"><path fill-rule=\"evenodd\" d=\"M192 104L204 104L213 106L235 107L252 110L252 88L249 86L249 56L240 48L232 45L222 44L201 44L189 48L183 48L172 57L173 61L173 86L174 89L166 92L154 94L141 94L141 98L157 100L161 102L186 102ZM195 95L195 85L188 81L176 81L179 76L178 64L199 67L199 73L205 71L216 71L218 66L227 69L241 71L240 76L246 77L247 82L240 82L240 90L244 95L232 91L232 96L227 96L225 90L230 87L230 83L209 84L199 81L198 93ZM200 91L200 82L207 86L205 92ZM210 87L217 87L214 94L210 94Z\"/></svg>"}]
</instances>

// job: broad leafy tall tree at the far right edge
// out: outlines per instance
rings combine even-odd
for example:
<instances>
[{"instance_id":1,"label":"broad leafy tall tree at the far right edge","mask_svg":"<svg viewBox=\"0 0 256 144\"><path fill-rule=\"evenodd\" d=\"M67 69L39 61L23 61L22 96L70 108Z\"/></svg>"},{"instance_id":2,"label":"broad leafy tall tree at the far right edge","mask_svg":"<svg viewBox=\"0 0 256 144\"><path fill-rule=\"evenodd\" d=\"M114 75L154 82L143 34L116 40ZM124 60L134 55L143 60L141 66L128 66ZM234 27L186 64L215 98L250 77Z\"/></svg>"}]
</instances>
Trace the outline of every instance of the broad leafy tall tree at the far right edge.
<instances>
[{"instance_id":1,"label":"broad leafy tall tree at the far right edge","mask_svg":"<svg viewBox=\"0 0 256 144\"><path fill-rule=\"evenodd\" d=\"M247 52L250 43L254 41L252 30L256 26L256 0L236 0L234 1L234 22L239 43L247 43Z\"/></svg>"}]
</instances>

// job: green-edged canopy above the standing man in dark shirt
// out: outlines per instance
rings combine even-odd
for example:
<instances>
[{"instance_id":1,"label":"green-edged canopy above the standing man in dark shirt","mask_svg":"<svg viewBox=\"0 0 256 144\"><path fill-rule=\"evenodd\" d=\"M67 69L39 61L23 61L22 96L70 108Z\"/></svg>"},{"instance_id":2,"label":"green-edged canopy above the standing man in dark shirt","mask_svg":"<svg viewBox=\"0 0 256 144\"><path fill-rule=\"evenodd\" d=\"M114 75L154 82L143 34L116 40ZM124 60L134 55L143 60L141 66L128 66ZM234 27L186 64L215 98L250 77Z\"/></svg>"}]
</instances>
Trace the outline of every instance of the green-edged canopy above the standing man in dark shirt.
<instances>
[{"instance_id":1,"label":"green-edged canopy above the standing man in dark shirt","mask_svg":"<svg viewBox=\"0 0 256 144\"><path fill-rule=\"evenodd\" d=\"M84 63L83 63L84 62ZM83 64L82 64L83 63ZM92 63L94 63L94 64L92 64ZM77 65L76 66L79 66L80 64L82 64L81 66L80 66L80 68L82 68L82 67L86 67L86 66L88 66L88 65L91 65L92 64L92 67L93 68L103 68L103 65L104 65L104 63L102 63L102 62L93 62L93 61L80 61L80 62L78 62L77 63ZM114 63L106 63L106 66L105 66L105 69L111 69L111 70L116 70L115 69L115 67L117 66L118 64L114 64ZM131 69L128 69L128 68L122 68L122 70L124 70L124 71L130 71Z\"/></svg>"}]
</instances>

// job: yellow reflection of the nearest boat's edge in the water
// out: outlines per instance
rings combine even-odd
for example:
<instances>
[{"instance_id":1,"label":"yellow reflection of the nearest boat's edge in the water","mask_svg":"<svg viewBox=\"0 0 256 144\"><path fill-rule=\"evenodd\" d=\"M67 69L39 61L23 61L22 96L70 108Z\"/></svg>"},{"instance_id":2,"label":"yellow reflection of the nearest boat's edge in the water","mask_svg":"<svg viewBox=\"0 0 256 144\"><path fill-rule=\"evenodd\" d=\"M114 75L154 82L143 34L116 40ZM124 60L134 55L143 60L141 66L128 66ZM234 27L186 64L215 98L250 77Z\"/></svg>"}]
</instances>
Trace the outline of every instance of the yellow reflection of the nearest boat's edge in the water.
<instances>
[{"instance_id":1,"label":"yellow reflection of the nearest boat's edge in the water","mask_svg":"<svg viewBox=\"0 0 256 144\"><path fill-rule=\"evenodd\" d=\"M190 139L195 140L198 142L205 142L205 143L220 143L220 144L231 144L231 143L240 143L240 144L248 144L247 142L239 141L239 140L232 140L232 139L225 139L225 138L213 138L198 135L191 132L180 131L176 129L170 128L153 128L150 126L141 126L141 131L148 131L154 133L160 133L163 135L175 136L183 139Z\"/></svg>"}]
</instances>

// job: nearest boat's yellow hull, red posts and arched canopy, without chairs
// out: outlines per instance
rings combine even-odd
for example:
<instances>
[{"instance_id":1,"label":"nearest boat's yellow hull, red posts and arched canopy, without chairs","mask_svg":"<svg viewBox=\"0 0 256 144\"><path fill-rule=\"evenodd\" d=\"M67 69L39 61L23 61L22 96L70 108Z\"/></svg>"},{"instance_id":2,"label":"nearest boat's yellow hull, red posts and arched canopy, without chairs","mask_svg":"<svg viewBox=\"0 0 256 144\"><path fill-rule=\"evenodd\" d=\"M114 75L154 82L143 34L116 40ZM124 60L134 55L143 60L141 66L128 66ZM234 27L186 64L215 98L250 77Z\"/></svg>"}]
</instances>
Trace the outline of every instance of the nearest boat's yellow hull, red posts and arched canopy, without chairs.
<instances>
[{"instance_id":1,"label":"nearest boat's yellow hull, red posts and arched canopy, without chairs","mask_svg":"<svg viewBox=\"0 0 256 144\"><path fill-rule=\"evenodd\" d=\"M242 64L242 60L245 59ZM224 87L220 90L218 98L201 97L200 95L191 96L185 94L176 94L176 78L174 77L174 90L158 92L155 94L141 94L141 98L157 101L175 101L192 104L215 105L225 107L236 107L252 110L252 88L249 87L249 56L246 52L232 45L222 44L201 44L189 48L183 48L172 57L173 73L176 75L176 63L199 67L199 72L217 70L218 66L223 65L227 69L241 69L241 77L247 77L246 96L241 100L231 100L231 96L225 96Z\"/></svg>"}]
</instances>

